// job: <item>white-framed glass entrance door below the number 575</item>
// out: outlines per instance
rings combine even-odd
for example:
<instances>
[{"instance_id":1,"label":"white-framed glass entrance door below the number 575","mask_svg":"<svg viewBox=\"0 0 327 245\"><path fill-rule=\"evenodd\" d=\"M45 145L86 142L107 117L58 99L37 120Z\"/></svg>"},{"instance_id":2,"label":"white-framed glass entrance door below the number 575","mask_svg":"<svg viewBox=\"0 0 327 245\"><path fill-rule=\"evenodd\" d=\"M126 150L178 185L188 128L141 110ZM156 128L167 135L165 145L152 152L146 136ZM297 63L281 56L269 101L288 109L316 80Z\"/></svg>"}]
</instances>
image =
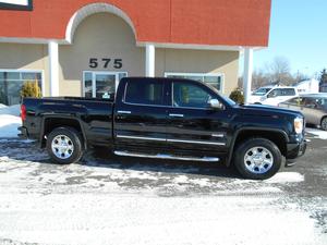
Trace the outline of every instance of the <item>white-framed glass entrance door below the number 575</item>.
<instances>
[{"instance_id":1,"label":"white-framed glass entrance door below the number 575","mask_svg":"<svg viewBox=\"0 0 327 245\"><path fill-rule=\"evenodd\" d=\"M125 72L85 72L84 97L113 99L119 81L126 75Z\"/></svg>"}]
</instances>

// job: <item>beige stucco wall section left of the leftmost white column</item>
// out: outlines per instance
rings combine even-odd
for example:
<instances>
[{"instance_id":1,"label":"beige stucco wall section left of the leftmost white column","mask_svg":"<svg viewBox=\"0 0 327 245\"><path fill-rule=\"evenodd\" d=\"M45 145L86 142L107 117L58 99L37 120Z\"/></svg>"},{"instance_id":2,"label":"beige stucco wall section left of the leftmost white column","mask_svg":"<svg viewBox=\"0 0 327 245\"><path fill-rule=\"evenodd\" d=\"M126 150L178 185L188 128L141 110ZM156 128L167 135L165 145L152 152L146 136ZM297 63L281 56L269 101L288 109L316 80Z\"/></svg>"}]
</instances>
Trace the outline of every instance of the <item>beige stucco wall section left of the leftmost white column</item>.
<instances>
[{"instance_id":1,"label":"beige stucco wall section left of the leftmost white column","mask_svg":"<svg viewBox=\"0 0 327 245\"><path fill-rule=\"evenodd\" d=\"M49 95L47 45L0 44L0 69L41 71L44 91Z\"/></svg>"}]
</instances>

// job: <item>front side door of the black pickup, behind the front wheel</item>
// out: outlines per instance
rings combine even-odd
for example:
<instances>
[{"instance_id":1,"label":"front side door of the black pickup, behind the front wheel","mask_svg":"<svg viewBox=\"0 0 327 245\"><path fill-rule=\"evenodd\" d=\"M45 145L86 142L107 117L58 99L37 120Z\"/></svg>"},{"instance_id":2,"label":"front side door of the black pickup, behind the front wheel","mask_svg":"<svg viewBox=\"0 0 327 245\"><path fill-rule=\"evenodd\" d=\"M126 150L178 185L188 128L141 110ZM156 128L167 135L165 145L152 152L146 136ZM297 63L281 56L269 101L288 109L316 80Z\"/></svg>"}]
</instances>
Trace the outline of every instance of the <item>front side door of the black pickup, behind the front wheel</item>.
<instances>
[{"instance_id":1,"label":"front side door of the black pickup, behind the front wheel","mask_svg":"<svg viewBox=\"0 0 327 245\"><path fill-rule=\"evenodd\" d=\"M198 83L171 82L167 144L172 151L217 156L227 151L230 118L227 109L213 109L210 99L219 99Z\"/></svg>"}]
</instances>

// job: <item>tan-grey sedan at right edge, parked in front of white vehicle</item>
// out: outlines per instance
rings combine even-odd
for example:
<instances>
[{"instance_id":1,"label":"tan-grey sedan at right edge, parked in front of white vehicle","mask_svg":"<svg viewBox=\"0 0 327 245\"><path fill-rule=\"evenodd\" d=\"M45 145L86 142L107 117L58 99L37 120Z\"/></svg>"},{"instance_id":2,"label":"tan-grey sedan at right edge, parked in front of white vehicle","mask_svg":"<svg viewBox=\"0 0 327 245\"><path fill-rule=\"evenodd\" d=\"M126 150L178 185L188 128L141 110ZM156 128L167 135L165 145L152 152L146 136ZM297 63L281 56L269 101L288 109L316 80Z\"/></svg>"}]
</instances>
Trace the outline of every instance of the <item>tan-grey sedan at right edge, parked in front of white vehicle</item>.
<instances>
[{"instance_id":1,"label":"tan-grey sedan at right edge, parked in front of white vehicle","mask_svg":"<svg viewBox=\"0 0 327 245\"><path fill-rule=\"evenodd\" d=\"M306 123L319 125L327 131L327 93L301 95L279 103L279 107L300 111Z\"/></svg>"}]
</instances>

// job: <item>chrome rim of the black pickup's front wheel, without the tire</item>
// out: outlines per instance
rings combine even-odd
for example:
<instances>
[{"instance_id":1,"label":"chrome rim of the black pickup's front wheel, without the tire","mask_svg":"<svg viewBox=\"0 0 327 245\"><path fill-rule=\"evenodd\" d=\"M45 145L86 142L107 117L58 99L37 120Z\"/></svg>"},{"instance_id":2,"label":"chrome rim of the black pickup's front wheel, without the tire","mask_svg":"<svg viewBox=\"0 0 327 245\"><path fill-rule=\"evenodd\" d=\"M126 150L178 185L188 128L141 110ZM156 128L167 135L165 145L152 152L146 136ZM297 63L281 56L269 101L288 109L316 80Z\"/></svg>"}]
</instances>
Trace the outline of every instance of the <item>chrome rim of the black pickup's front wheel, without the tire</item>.
<instances>
[{"instance_id":1,"label":"chrome rim of the black pickup's front wheel, without the tire","mask_svg":"<svg viewBox=\"0 0 327 245\"><path fill-rule=\"evenodd\" d=\"M271 169L274 157L265 147L253 147L246 151L244 164L251 173L264 174Z\"/></svg>"}]
</instances>

